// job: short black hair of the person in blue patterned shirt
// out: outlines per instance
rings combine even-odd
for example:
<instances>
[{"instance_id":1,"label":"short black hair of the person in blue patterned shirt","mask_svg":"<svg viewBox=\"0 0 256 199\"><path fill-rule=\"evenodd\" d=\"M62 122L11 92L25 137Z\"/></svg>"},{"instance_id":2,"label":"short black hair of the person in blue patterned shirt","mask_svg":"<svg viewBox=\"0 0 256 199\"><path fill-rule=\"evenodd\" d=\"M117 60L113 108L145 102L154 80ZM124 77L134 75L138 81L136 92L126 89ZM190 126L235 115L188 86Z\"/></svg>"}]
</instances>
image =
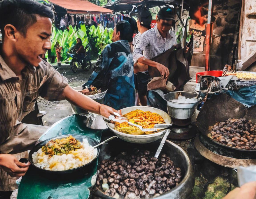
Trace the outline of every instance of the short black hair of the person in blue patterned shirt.
<instances>
[{"instance_id":1,"label":"short black hair of the person in blue patterned shirt","mask_svg":"<svg viewBox=\"0 0 256 199\"><path fill-rule=\"evenodd\" d=\"M128 21L119 21L116 23L116 32L120 32L120 38L123 40L132 41L133 30L131 24Z\"/></svg>"}]
</instances>

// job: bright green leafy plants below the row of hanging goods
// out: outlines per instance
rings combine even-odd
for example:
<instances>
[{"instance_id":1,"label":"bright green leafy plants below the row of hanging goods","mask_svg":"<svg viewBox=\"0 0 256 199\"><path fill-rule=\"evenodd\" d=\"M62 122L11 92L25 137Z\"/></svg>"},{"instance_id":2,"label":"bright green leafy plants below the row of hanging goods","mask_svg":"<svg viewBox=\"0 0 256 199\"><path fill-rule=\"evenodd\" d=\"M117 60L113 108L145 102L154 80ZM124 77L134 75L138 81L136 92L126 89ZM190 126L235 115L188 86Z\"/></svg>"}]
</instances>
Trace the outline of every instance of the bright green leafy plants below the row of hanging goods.
<instances>
[{"instance_id":1,"label":"bright green leafy plants below the row of hanging goods","mask_svg":"<svg viewBox=\"0 0 256 199\"><path fill-rule=\"evenodd\" d=\"M59 30L53 26L52 29L52 45L51 53L48 58L56 56L55 45L58 42L60 46L63 47L61 52L61 61L70 61L68 56L68 51L70 51L76 45L76 39L80 38L84 47L87 47L89 51L90 58L96 60L101 54L102 50L106 45L110 44L112 41L113 29L103 28L98 26L91 26L86 29L83 24L81 28L76 29L76 27L69 26L68 30ZM56 62L56 59L55 59Z\"/></svg>"}]
</instances>

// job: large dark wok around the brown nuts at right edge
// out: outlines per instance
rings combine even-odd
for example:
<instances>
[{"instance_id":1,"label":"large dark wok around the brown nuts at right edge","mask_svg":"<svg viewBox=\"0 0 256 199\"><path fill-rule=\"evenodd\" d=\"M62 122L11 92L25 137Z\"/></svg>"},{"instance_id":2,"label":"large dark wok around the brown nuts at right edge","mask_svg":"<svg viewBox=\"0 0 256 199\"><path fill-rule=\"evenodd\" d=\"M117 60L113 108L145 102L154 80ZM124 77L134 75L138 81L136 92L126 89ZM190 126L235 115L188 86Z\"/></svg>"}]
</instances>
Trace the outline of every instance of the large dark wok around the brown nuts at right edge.
<instances>
[{"instance_id":1,"label":"large dark wok around the brown nuts at right edge","mask_svg":"<svg viewBox=\"0 0 256 199\"><path fill-rule=\"evenodd\" d=\"M227 146L214 140L210 134L212 126L217 122L223 122L230 118L239 119L245 117L256 123L255 111L256 106L246 109L243 104L225 93L212 97L203 105L196 119L201 143L210 151L219 155L237 159L255 159L255 150Z\"/></svg>"}]
</instances>

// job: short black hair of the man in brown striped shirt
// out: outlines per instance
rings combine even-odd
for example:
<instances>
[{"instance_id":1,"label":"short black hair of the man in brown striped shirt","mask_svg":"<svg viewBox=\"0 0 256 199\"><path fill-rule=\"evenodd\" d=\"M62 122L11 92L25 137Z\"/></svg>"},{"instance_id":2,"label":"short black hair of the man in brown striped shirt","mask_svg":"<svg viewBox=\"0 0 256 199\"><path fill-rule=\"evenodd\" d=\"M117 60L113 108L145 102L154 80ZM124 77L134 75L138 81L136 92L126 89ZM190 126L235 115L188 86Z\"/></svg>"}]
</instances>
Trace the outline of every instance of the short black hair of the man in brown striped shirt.
<instances>
[{"instance_id":1,"label":"short black hair of the man in brown striped shirt","mask_svg":"<svg viewBox=\"0 0 256 199\"><path fill-rule=\"evenodd\" d=\"M28 27L36 23L36 15L54 18L53 11L46 5L32 0L0 1L0 29L4 39L4 27L13 25L26 36Z\"/></svg>"}]
</instances>

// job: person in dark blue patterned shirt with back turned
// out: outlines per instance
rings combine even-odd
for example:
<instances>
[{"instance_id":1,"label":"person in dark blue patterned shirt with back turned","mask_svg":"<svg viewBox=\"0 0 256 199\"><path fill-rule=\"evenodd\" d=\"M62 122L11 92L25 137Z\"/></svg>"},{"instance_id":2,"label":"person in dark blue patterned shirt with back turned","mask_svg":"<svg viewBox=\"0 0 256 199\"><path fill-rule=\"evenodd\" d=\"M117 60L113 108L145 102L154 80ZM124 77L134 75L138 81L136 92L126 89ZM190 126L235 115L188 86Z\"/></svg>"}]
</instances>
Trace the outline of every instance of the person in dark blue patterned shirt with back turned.
<instances>
[{"instance_id":1,"label":"person in dark blue patterned shirt with back turned","mask_svg":"<svg viewBox=\"0 0 256 199\"><path fill-rule=\"evenodd\" d=\"M116 110L135 105L133 58L128 40L133 36L131 25L119 21L113 32L113 43L102 51L99 62L89 80L83 85L93 85L107 91L104 104Z\"/></svg>"}]
</instances>

